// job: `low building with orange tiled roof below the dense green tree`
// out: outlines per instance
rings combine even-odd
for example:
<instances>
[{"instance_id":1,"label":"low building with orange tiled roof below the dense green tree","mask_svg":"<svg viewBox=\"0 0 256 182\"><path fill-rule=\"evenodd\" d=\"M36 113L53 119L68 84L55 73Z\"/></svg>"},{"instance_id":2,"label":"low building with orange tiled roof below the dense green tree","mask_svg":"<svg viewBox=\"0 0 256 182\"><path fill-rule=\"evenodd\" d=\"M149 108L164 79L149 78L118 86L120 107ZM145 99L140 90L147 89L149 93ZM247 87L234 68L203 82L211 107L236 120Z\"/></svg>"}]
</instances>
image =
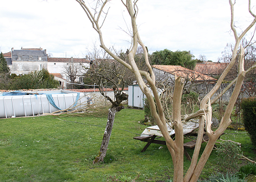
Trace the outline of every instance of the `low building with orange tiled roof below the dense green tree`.
<instances>
[{"instance_id":1,"label":"low building with orange tiled roof below the dense green tree","mask_svg":"<svg viewBox=\"0 0 256 182\"><path fill-rule=\"evenodd\" d=\"M168 81L174 83L175 76L180 76L189 82L207 82L214 83L217 80L202 73L192 71L179 65L152 65L156 81Z\"/></svg>"}]
</instances>

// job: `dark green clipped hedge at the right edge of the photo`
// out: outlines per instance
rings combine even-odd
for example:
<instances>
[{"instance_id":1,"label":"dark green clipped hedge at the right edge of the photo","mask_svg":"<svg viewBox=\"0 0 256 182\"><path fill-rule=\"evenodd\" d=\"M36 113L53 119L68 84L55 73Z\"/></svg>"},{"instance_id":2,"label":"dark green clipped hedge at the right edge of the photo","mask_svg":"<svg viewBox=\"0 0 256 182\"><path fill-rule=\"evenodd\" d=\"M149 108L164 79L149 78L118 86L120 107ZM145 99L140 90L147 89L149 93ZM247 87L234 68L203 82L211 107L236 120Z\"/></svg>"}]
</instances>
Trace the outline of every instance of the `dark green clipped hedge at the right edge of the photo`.
<instances>
[{"instance_id":1,"label":"dark green clipped hedge at the right edge of the photo","mask_svg":"<svg viewBox=\"0 0 256 182\"><path fill-rule=\"evenodd\" d=\"M251 97L241 102L243 124L251 138L251 143L256 146L256 98Z\"/></svg>"}]
</instances>

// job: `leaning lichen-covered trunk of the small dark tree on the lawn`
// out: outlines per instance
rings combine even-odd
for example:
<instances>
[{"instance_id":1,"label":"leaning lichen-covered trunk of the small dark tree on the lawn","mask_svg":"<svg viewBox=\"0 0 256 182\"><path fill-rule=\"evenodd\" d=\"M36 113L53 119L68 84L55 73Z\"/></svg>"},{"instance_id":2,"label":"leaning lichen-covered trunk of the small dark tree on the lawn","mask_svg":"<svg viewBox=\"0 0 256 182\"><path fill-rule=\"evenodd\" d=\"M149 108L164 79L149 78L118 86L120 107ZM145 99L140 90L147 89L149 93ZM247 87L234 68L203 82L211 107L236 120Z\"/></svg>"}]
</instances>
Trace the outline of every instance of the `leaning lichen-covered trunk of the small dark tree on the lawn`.
<instances>
[{"instance_id":1,"label":"leaning lichen-covered trunk of the small dark tree on the lawn","mask_svg":"<svg viewBox=\"0 0 256 182\"><path fill-rule=\"evenodd\" d=\"M117 113L118 111L121 111L122 109L125 109L125 107L118 106L118 107L112 107L109 109L108 122L106 124L106 129L104 131L100 152L98 156L93 160L93 164L104 161L104 158L106 156L106 151L109 145L110 135L112 133L112 129L114 125L115 113Z\"/></svg>"}]
</instances>

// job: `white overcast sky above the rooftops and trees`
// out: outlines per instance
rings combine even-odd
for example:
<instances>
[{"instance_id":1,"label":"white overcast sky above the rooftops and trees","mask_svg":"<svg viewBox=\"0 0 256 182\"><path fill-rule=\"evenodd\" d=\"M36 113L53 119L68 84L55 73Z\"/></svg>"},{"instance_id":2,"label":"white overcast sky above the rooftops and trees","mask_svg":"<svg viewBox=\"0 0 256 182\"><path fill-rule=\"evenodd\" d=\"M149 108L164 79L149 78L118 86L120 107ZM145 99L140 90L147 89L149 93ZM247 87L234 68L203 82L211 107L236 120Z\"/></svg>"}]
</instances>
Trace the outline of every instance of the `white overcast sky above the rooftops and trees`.
<instances>
[{"instance_id":1,"label":"white overcast sky above the rooftops and trees","mask_svg":"<svg viewBox=\"0 0 256 182\"><path fill-rule=\"evenodd\" d=\"M226 44L234 43L228 0L140 0L138 7L139 34L150 53L167 48L217 61ZM0 0L0 9L3 53L11 48L42 47L53 57L81 58L98 43L96 31L75 0ZM108 47L129 48L125 31L129 31L130 20L125 10L119 0L110 2L102 29ZM235 14L240 31L251 20L247 1L237 1Z\"/></svg>"}]
</instances>

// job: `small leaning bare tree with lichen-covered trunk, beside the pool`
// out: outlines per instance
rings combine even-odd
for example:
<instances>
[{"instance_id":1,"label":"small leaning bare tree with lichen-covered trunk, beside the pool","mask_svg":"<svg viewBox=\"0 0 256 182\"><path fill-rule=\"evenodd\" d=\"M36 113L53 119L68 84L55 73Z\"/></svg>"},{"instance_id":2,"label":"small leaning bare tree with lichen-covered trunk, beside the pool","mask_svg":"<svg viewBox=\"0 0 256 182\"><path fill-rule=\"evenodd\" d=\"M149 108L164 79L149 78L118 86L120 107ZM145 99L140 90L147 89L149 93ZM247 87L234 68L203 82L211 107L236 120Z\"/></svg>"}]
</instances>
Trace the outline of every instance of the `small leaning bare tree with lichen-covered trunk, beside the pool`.
<instances>
[{"instance_id":1,"label":"small leaning bare tree with lichen-covered trunk, beside the pool","mask_svg":"<svg viewBox=\"0 0 256 182\"><path fill-rule=\"evenodd\" d=\"M102 96L106 98L106 100L110 101L112 106L109 109L108 113L108 122L106 124L106 129L103 135L100 152L93 163L103 162L106 156L106 151L108 149L108 144L110 140L110 135L112 133L115 113L125 109L123 105L121 105L122 101L128 99L128 95L123 92L125 88L125 82L123 81L121 69L115 68L115 62L107 60L97 60L91 64L91 67L87 73L92 80L97 82L98 87L100 89L100 93ZM112 87L114 92L114 98L111 98L106 95L104 92L106 88L109 86Z\"/></svg>"}]
</instances>

